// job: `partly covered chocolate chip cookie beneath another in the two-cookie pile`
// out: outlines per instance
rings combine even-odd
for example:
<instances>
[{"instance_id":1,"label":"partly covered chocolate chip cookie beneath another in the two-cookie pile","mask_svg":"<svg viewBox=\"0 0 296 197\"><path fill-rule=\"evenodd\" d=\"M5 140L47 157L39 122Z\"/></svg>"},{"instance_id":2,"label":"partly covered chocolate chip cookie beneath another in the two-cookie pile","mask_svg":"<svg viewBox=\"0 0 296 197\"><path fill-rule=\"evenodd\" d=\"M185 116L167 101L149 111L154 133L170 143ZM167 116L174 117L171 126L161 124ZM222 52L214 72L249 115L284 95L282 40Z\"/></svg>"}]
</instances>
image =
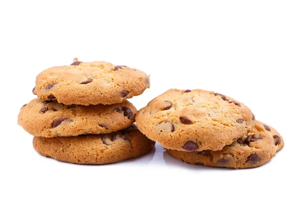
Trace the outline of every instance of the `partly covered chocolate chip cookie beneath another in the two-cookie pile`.
<instances>
[{"instance_id":1,"label":"partly covered chocolate chip cookie beneath another in the two-cookie pile","mask_svg":"<svg viewBox=\"0 0 296 197\"><path fill-rule=\"evenodd\" d=\"M275 129L256 121L252 132L238 138L221 151L184 152L169 149L166 151L173 158L190 164L251 168L266 164L283 147L284 140Z\"/></svg>"}]
</instances>

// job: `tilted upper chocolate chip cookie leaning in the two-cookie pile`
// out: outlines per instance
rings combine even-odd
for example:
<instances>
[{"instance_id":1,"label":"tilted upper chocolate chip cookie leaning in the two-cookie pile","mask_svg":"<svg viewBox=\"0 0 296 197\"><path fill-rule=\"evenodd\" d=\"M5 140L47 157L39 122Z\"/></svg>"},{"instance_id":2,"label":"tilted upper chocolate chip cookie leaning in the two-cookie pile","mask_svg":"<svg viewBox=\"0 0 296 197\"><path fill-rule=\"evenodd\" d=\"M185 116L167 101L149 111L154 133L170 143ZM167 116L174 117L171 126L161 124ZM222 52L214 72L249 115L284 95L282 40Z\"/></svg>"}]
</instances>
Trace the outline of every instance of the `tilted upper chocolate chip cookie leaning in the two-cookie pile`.
<instances>
[{"instance_id":1,"label":"tilted upper chocolate chip cookie leaning in the two-cookie pile","mask_svg":"<svg viewBox=\"0 0 296 197\"><path fill-rule=\"evenodd\" d=\"M243 103L218 93L171 89L139 110L136 122L167 149L222 150L253 130L255 116Z\"/></svg>"}]
</instances>

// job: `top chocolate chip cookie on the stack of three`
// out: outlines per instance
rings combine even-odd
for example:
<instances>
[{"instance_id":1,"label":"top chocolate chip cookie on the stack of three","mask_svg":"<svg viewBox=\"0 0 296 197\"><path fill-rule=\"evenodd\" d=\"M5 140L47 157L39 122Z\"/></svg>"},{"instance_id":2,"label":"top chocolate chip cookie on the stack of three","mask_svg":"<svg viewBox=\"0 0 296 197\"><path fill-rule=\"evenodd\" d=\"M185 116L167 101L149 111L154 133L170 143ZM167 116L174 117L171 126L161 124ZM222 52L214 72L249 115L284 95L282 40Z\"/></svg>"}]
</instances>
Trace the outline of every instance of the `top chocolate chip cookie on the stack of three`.
<instances>
[{"instance_id":1,"label":"top chocolate chip cookie on the stack of three","mask_svg":"<svg viewBox=\"0 0 296 197\"><path fill-rule=\"evenodd\" d=\"M57 100L67 105L113 104L141 95L149 87L149 76L138 69L108 62L76 61L39 73L33 93L40 100Z\"/></svg>"}]
</instances>

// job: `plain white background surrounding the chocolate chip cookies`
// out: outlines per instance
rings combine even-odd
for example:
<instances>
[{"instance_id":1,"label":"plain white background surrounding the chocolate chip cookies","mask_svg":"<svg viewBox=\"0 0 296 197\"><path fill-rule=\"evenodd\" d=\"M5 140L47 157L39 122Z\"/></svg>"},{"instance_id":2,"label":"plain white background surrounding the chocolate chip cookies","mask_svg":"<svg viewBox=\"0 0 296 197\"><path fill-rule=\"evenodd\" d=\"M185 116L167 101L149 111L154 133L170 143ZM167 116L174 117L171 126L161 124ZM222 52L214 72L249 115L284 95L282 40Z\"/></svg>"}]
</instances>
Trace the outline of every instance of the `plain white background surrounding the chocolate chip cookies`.
<instances>
[{"instance_id":1,"label":"plain white background surrounding the chocolate chip cookies","mask_svg":"<svg viewBox=\"0 0 296 197\"><path fill-rule=\"evenodd\" d=\"M184 164L164 153L109 165L39 156L17 125L51 66L109 61L151 74L130 99L140 109L170 88L244 102L285 147L268 164L234 170ZM296 1L0 1L0 196L293 196ZM292 180L291 180L292 179Z\"/></svg>"}]
</instances>

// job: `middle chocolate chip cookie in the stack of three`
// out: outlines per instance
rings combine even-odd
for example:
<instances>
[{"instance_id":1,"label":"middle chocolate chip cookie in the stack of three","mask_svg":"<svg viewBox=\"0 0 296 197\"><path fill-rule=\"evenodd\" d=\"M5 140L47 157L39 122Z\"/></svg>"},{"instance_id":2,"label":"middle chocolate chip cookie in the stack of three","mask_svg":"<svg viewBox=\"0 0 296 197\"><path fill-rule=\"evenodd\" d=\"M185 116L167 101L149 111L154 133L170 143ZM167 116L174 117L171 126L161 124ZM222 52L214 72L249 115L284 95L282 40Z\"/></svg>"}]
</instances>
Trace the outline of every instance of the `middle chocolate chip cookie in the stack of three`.
<instances>
[{"instance_id":1,"label":"middle chocolate chip cookie in the stack of three","mask_svg":"<svg viewBox=\"0 0 296 197\"><path fill-rule=\"evenodd\" d=\"M125 100L111 105L64 105L33 99L18 115L18 124L41 137L76 136L118 131L135 122L137 109Z\"/></svg>"}]
</instances>

